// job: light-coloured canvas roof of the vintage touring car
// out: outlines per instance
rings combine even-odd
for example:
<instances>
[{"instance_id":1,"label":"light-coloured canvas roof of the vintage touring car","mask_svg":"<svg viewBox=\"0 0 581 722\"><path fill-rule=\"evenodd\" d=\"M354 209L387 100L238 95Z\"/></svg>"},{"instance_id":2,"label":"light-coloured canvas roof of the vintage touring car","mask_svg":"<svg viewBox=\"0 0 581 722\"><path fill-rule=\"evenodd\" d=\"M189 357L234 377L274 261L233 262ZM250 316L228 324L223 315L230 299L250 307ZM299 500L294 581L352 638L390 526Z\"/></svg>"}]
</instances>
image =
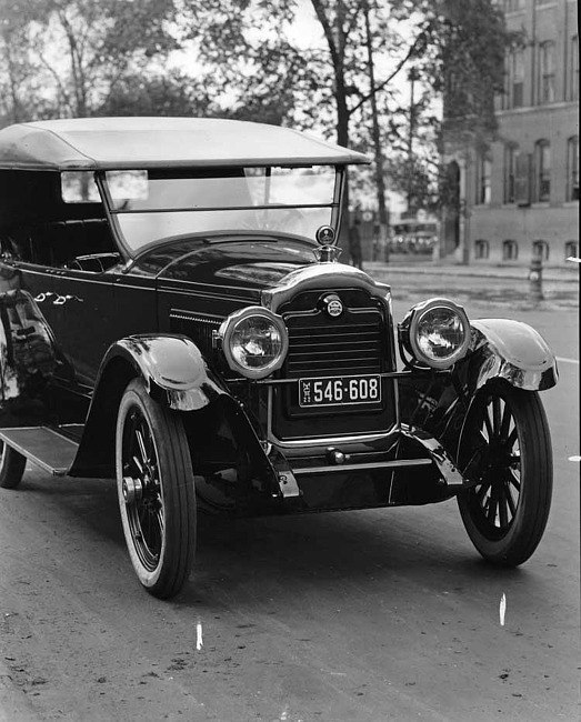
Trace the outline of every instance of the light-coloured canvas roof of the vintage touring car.
<instances>
[{"instance_id":1,"label":"light-coloured canvas roof of the vintage touring car","mask_svg":"<svg viewBox=\"0 0 581 722\"><path fill-rule=\"evenodd\" d=\"M367 163L277 126L209 118L74 118L0 130L0 168L94 170Z\"/></svg>"}]
</instances>

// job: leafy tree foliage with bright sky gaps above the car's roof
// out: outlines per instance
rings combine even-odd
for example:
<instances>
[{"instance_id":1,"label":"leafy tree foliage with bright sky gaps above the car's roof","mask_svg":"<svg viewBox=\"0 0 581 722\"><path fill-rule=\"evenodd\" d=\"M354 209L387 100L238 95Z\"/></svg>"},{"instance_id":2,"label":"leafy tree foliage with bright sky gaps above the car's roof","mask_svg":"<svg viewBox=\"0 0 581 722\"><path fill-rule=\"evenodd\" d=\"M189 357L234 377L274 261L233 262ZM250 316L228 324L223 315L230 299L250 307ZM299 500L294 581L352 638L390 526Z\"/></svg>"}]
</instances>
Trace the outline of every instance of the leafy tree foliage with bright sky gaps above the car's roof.
<instances>
[{"instance_id":1,"label":"leafy tree foliage with bright sky gaps above the car's roof","mask_svg":"<svg viewBox=\"0 0 581 722\"><path fill-rule=\"evenodd\" d=\"M308 10L312 47L295 23ZM492 0L0 0L0 122L220 114L292 124L372 150L379 176L352 177L360 199L385 178L412 208L432 209L447 197L443 143L493 137L505 51L520 40ZM176 70L180 48L190 63ZM410 69L412 108L395 82Z\"/></svg>"}]
</instances>

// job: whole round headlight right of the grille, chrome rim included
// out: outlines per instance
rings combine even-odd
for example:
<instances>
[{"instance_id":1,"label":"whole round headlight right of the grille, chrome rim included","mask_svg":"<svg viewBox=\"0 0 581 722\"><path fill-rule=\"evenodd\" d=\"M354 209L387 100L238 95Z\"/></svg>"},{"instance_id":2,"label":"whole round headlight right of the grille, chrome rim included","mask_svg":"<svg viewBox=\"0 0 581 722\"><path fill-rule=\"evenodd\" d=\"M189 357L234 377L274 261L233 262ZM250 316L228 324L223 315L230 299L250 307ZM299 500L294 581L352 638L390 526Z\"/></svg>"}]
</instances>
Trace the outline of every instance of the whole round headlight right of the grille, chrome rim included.
<instances>
[{"instance_id":1,"label":"whole round headlight right of the grille, chrome rim included","mask_svg":"<svg viewBox=\"0 0 581 722\"><path fill-rule=\"evenodd\" d=\"M470 345L470 323L462 307L448 299L414 305L400 325L405 350L422 365L448 369Z\"/></svg>"}]
</instances>

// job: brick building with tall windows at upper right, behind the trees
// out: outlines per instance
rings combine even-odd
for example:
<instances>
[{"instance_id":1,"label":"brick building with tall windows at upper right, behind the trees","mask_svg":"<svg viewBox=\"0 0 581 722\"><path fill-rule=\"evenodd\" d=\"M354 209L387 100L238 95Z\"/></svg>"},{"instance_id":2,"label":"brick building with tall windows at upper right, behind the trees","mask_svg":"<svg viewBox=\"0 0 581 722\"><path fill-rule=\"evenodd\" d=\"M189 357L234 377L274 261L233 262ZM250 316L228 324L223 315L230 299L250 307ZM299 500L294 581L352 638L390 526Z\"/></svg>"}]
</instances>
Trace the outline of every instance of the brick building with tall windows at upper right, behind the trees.
<instances>
[{"instance_id":1,"label":"brick building with tall windows at upper right, behind the trees","mask_svg":"<svg viewBox=\"0 0 581 722\"><path fill-rule=\"evenodd\" d=\"M525 47L507 58L497 140L448 158L462 212L442 248L458 261L561 265L579 255L575 0L504 0ZM450 233L455 238L450 240Z\"/></svg>"}]
</instances>

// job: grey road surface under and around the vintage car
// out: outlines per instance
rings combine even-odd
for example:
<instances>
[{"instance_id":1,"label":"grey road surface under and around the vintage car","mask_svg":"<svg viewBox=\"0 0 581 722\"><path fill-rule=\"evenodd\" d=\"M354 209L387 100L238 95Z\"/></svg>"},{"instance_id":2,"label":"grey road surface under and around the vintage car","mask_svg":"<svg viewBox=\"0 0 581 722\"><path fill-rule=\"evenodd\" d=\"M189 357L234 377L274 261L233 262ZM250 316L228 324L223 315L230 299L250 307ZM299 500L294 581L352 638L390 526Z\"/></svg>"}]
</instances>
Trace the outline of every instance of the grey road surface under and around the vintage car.
<instances>
[{"instance_id":1,"label":"grey road surface under and around the vintage car","mask_svg":"<svg viewBox=\"0 0 581 722\"><path fill-rule=\"evenodd\" d=\"M398 282L401 318L415 281ZM553 507L527 564L480 561L454 501L202 519L196 573L160 602L133 576L113 483L29 467L0 490L0 720L579 719L577 309L465 297L473 317L532 323L560 359L543 393Z\"/></svg>"}]
</instances>

